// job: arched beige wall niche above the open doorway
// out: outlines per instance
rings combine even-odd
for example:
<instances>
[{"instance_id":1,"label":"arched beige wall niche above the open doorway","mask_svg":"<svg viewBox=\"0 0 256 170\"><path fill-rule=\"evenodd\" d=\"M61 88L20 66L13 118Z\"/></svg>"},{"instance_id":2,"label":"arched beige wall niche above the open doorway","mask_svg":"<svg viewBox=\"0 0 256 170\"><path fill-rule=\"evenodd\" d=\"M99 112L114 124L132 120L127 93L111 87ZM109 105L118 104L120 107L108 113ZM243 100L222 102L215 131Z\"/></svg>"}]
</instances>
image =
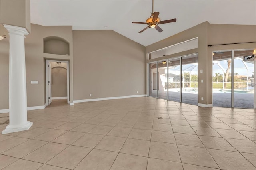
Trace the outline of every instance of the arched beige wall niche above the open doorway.
<instances>
[{"instance_id":1,"label":"arched beige wall niche above the open doorway","mask_svg":"<svg viewBox=\"0 0 256 170\"><path fill-rule=\"evenodd\" d=\"M69 55L69 42L57 36L46 37L44 38L44 53Z\"/></svg>"}]
</instances>

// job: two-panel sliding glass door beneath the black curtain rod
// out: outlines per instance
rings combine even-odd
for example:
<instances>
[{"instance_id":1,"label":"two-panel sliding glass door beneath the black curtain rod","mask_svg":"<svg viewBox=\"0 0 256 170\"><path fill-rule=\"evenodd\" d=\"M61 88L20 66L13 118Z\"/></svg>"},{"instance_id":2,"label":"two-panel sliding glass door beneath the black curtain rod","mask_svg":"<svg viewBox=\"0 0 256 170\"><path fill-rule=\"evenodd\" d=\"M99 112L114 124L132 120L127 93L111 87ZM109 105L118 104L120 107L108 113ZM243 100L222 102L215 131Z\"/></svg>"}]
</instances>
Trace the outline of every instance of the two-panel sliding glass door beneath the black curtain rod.
<instances>
[{"instance_id":1,"label":"two-panel sliding glass door beneath the black curtain rod","mask_svg":"<svg viewBox=\"0 0 256 170\"><path fill-rule=\"evenodd\" d=\"M255 108L253 49L213 53L213 106Z\"/></svg>"}]
</instances>

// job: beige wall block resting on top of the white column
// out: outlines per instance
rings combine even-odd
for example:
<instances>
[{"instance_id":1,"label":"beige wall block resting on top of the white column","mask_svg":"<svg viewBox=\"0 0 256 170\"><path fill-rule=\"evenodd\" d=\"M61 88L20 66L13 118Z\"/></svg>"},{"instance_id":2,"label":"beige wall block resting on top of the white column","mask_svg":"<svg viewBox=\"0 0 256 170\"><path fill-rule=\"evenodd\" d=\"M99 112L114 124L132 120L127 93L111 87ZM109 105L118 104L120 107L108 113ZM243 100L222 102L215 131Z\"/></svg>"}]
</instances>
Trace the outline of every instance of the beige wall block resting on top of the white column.
<instances>
[{"instance_id":1,"label":"beige wall block resting on top of the white column","mask_svg":"<svg viewBox=\"0 0 256 170\"><path fill-rule=\"evenodd\" d=\"M1 24L24 27L31 32L30 0L0 0Z\"/></svg>"}]
</instances>

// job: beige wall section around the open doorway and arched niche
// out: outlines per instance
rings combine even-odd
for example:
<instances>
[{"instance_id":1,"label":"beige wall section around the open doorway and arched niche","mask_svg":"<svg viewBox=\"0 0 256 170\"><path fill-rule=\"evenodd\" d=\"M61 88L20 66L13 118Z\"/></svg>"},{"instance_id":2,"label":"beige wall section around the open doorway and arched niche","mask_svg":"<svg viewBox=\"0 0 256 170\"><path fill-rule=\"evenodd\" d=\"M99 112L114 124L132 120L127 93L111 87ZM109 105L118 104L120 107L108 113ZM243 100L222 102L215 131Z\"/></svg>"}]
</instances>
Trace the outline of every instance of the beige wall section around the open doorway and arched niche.
<instances>
[{"instance_id":1,"label":"beige wall section around the open doorway and arched niche","mask_svg":"<svg viewBox=\"0 0 256 170\"><path fill-rule=\"evenodd\" d=\"M26 52L26 75L27 75L27 89L30 89L30 78L38 77L40 79L40 85L35 87L35 91L28 94L28 106L31 103L32 106L42 105L40 103L45 103L46 101L46 88L45 88L45 59L56 59L56 60L65 60L69 61L70 64L70 102L73 102L73 93L72 93L72 79L73 74L72 64L73 64L73 55L72 55L72 26L40 26L32 24L31 34L28 35L25 39L25 52ZM61 31L60 31L61 30ZM44 41L43 39L49 36L57 36L64 38L70 43L70 55L56 55L43 53ZM32 64L34 63L34 64ZM27 67L29 65L29 67ZM31 69L31 70L30 70ZM39 97L40 96L40 97ZM40 100L40 101L39 101ZM33 101L33 103L32 103ZM36 103L35 103L36 102Z\"/></svg>"}]
</instances>

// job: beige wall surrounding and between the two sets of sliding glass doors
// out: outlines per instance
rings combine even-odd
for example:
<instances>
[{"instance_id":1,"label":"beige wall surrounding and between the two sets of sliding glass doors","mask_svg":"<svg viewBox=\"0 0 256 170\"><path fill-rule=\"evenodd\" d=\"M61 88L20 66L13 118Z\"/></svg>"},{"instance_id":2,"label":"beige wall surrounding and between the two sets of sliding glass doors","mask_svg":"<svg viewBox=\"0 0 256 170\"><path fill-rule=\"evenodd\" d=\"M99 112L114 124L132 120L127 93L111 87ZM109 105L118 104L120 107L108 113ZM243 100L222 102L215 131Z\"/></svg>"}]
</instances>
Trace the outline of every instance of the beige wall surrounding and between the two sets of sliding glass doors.
<instances>
[{"instance_id":1,"label":"beige wall surrounding and between the two sets of sliding glass doors","mask_svg":"<svg viewBox=\"0 0 256 170\"><path fill-rule=\"evenodd\" d=\"M160 57L158 59L152 59L150 61L147 60L147 62L198 53L198 70L203 70L203 73L198 73L198 101L202 104L212 104L212 51L256 48L256 43L212 47L208 47L207 45L255 42L256 26L209 24L208 22L204 22L174 36L147 46L146 53L162 49L176 43L184 42L195 37L198 37L199 40L197 49ZM202 79L204 80L204 83L201 83ZM201 100L201 97L204 97L204 101Z\"/></svg>"}]
</instances>

